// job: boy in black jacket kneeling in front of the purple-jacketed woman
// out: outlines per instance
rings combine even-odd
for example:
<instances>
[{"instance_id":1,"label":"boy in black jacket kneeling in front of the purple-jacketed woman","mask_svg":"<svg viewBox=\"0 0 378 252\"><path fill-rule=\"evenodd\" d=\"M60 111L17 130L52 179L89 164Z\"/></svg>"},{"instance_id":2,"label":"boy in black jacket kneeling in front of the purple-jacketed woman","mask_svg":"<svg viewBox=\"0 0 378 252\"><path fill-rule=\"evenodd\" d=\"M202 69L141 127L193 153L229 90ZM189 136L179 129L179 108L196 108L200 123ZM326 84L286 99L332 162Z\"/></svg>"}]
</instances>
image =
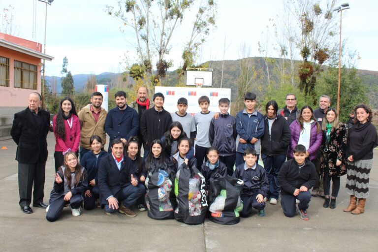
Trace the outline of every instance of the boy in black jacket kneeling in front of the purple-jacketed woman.
<instances>
[{"instance_id":1,"label":"boy in black jacket kneeling in front of the purple-jacketed woman","mask_svg":"<svg viewBox=\"0 0 378 252\"><path fill-rule=\"evenodd\" d=\"M293 150L293 159L281 166L278 183L281 185L281 206L286 217L296 214L295 199L299 200L301 219L310 220L307 209L311 200L310 189L317 181L315 165L306 159L306 147L298 144Z\"/></svg>"}]
</instances>

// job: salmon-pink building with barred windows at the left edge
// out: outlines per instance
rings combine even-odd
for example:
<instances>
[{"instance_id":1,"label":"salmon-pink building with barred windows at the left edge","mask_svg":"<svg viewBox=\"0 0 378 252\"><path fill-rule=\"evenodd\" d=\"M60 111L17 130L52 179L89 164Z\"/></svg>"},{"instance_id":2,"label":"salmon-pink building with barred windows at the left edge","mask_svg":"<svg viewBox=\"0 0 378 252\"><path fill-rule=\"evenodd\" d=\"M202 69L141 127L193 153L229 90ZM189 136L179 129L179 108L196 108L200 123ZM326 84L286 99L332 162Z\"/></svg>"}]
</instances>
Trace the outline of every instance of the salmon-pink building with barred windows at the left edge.
<instances>
[{"instance_id":1,"label":"salmon-pink building with barred windows at the left edge","mask_svg":"<svg viewBox=\"0 0 378 252\"><path fill-rule=\"evenodd\" d=\"M0 138L10 133L14 113L28 106L28 95L41 92L42 44L0 32Z\"/></svg>"}]
</instances>

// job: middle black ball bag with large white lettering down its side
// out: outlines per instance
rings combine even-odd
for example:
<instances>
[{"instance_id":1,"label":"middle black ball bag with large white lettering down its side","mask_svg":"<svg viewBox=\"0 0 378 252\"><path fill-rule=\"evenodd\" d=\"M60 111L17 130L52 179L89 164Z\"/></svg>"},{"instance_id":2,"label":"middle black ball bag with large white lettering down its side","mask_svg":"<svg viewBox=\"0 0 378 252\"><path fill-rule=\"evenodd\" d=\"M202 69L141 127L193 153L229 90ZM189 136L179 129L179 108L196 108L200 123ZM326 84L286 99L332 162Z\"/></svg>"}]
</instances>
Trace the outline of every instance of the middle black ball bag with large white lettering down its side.
<instances>
[{"instance_id":1,"label":"middle black ball bag with large white lettering down its side","mask_svg":"<svg viewBox=\"0 0 378 252\"><path fill-rule=\"evenodd\" d=\"M205 221L207 198L205 177L195 167L183 163L175 178L177 207L174 217L187 224L200 224Z\"/></svg>"}]
</instances>

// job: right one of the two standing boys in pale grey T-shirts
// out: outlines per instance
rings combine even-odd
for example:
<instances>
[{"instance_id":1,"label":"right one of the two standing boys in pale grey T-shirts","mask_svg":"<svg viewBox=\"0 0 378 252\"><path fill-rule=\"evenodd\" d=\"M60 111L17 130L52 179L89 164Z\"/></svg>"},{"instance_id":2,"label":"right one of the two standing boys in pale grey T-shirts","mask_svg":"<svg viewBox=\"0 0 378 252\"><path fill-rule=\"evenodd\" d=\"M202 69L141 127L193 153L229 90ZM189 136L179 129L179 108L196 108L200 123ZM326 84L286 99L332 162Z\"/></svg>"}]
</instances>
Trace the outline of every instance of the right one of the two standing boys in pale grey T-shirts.
<instances>
[{"instance_id":1,"label":"right one of the two standing boys in pale grey T-shirts","mask_svg":"<svg viewBox=\"0 0 378 252\"><path fill-rule=\"evenodd\" d=\"M206 95L199 97L198 104L201 112L194 115L194 124L197 127L195 158L197 159L197 167L201 167L202 163L207 161L206 151L211 146L209 142L209 128L215 112L209 111L210 99Z\"/></svg>"}]
</instances>

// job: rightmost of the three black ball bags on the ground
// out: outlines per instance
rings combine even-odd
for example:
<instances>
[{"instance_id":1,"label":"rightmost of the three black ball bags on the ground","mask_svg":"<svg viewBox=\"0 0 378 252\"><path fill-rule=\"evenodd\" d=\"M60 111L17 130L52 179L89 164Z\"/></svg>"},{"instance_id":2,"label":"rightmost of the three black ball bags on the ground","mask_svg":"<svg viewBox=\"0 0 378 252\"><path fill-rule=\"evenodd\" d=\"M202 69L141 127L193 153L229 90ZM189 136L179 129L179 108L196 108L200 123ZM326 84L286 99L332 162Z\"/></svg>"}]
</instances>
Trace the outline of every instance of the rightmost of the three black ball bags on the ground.
<instances>
[{"instance_id":1,"label":"rightmost of the three black ball bags on the ground","mask_svg":"<svg viewBox=\"0 0 378 252\"><path fill-rule=\"evenodd\" d=\"M239 223L239 213L243 210L240 192L243 181L217 174L209 185L209 220L223 225Z\"/></svg>"}]
</instances>

